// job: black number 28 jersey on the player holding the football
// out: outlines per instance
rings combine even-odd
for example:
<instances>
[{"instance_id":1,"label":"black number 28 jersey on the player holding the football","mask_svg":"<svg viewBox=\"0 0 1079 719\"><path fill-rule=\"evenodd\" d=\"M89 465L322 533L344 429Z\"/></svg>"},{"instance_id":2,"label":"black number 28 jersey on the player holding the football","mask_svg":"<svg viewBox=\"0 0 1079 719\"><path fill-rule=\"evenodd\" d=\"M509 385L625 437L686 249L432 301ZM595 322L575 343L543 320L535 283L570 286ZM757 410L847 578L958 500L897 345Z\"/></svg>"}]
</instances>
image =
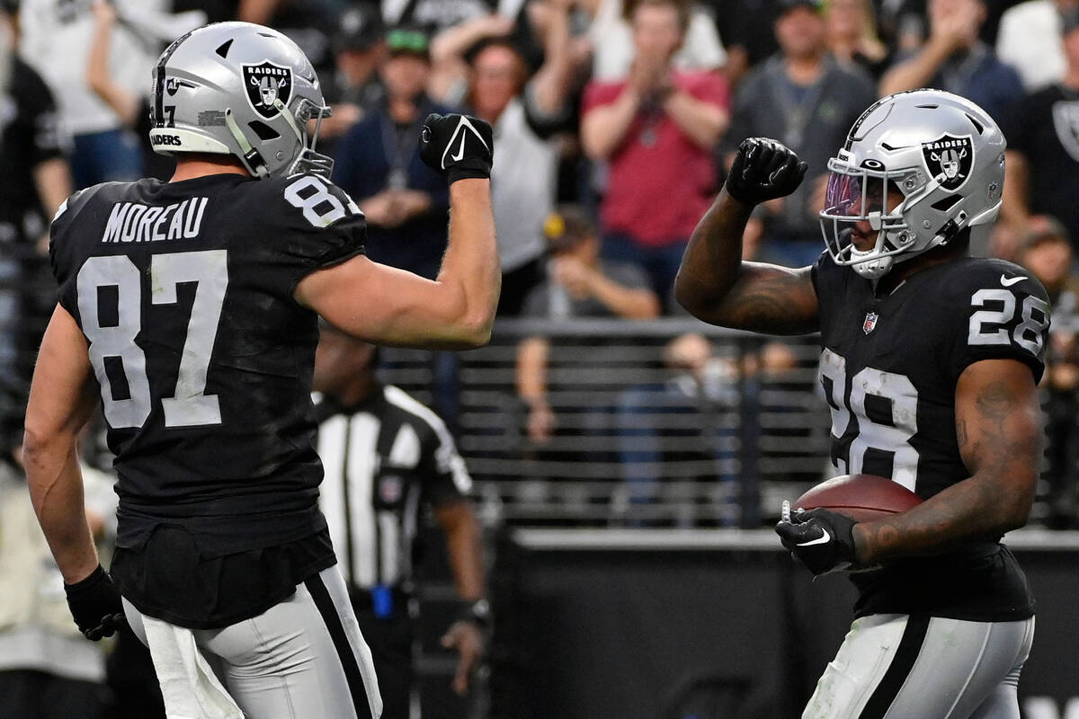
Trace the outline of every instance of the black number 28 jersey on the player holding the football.
<instances>
[{"instance_id":1,"label":"black number 28 jersey on the player holding the football","mask_svg":"<svg viewBox=\"0 0 1079 719\"><path fill-rule=\"evenodd\" d=\"M812 281L837 470L891 478L923 499L967 479L956 384L971 363L999 358L1023 362L1035 382L1041 378L1050 309L1038 280L1010 262L964 258L921 269L877 298L870 280L825 253ZM996 541L851 578L861 592L859 616L995 621L1033 612L1022 571Z\"/></svg>"}]
</instances>

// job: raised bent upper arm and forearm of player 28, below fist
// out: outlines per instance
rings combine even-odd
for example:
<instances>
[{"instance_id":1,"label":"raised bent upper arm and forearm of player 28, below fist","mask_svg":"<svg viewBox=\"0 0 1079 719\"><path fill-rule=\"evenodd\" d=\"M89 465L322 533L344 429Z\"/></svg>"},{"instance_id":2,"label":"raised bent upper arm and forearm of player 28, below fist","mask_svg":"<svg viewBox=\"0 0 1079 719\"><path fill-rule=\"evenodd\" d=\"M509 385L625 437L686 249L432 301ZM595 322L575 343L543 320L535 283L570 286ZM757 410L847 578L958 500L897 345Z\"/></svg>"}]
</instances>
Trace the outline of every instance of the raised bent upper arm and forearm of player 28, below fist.
<instances>
[{"instance_id":1,"label":"raised bent upper arm and forearm of player 28, below fist","mask_svg":"<svg viewBox=\"0 0 1079 719\"><path fill-rule=\"evenodd\" d=\"M752 207L720 192L689 238L674 280L674 298L694 317L770 334L819 329L809 268L791 269L741 259Z\"/></svg>"}]
</instances>

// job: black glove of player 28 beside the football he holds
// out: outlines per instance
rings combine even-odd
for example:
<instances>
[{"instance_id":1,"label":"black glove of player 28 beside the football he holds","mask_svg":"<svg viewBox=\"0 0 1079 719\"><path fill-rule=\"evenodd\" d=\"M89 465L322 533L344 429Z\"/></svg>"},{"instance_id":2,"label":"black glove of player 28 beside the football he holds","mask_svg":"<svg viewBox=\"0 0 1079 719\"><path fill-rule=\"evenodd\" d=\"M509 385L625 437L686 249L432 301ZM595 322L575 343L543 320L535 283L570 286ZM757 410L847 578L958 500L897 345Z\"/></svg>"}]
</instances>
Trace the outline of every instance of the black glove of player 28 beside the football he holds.
<instances>
[{"instance_id":1,"label":"black glove of player 28 beside the football he holds","mask_svg":"<svg viewBox=\"0 0 1079 719\"><path fill-rule=\"evenodd\" d=\"M776 525L776 534L794 558L814 575L846 571L855 567L856 522L827 509L798 510Z\"/></svg>"}]
</instances>

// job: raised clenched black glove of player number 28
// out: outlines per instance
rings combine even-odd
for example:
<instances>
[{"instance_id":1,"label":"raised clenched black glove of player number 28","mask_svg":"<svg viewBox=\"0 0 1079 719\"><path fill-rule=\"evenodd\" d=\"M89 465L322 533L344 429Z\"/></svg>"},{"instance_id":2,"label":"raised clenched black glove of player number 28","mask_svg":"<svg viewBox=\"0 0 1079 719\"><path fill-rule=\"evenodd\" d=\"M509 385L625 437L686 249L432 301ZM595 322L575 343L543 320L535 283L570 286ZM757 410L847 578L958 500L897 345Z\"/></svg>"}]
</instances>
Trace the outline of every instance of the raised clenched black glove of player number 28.
<instances>
[{"instance_id":1,"label":"raised clenched black glove of player number 28","mask_svg":"<svg viewBox=\"0 0 1079 719\"><path fill-rule=\"evenodd\" d=\"M793 151L766 137L741 141L727 175L727 194L740 203L756 205L786 197L802 184L808 165Z\"/></svg>"}]
</instances>

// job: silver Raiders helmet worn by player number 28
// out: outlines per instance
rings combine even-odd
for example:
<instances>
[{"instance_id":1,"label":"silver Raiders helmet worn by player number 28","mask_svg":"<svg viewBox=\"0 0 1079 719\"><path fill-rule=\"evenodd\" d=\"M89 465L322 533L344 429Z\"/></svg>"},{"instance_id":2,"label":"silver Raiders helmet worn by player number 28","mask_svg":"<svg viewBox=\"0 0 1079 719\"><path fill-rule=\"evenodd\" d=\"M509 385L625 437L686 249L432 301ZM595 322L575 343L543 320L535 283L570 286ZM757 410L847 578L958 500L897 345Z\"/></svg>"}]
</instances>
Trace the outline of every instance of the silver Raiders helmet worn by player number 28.
<instances>
[{"instance_id":1,"label":"silver Raiders helmet worn by player number 28","mask_svg":"<svg viewBox=\"0 0 1079 719\"><path fill-rule=\"evenodd\" d=\"M820 224L832 259L875 279L966 227L987 233L1000 209L1005 147L993 119L957 95L915 89L877 100L828 162ZM858 222L876 232L872 249L855 247Z\"/></svg>"}]
</instances>

